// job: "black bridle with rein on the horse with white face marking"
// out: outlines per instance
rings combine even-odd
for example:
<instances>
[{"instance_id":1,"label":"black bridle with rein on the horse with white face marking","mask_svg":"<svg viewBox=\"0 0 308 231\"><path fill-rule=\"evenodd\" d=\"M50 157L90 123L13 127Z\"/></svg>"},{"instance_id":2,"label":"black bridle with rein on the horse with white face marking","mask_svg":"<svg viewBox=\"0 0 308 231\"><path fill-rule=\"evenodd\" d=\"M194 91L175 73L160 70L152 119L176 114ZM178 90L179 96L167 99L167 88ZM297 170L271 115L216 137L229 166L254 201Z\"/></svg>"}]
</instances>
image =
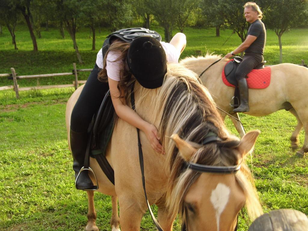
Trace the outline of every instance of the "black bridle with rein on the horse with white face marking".
<instances>
[{"instance_id":1,"label":"black bridle with rein on the horse with white face marking","mask_svg":"<svg viewBox=\"0 0 308 231\"><path fill-rule=\"evenodd\" d=\"M134 83L133 83L132 89L131 89L131 104L132 104L132 109L134 111L136 111L135 95L134 95ZM143 186L143 189L144 189L144 196L145 196L146 204L148 206L152 220L153 220L154 224L156 225L157 230L164 231L161 228L158 221L156 220L156 218L154 217L154 214L153 214L152 209L150 207L150 204L148 202L148 197L147 197L147 193L146 193L146 190L145 190L144 159L143 159L143 152L142 152L141 141L140 141L140 136L139 136L139 128L137 128L137 137L138 137L138 151L139 151L139 162L140 162L142 186ZM217 141L221 141L221 138L219 138L217 136L217 134L215 134L214 132L208 132L208 134L205 136L205 138L201 141L201 144L206 145L206 144L209 144L211 142L217 142ZM186 162L186 168L190 168L193 171L197 171L197 172L201 172L201 173L228 174L228 173L236 173L238 170L240 170L241 163L238 164L238 165L234 165L234 166L209 166L209 165L195 164L195 163L192 163L192 162ZM182 231L187 231L186 223L187 223L187 217L186 217L184 225L182 225ZM236 230L237 230L237 225L236 225L235 231Z\"/></svg>"}]
</instances>

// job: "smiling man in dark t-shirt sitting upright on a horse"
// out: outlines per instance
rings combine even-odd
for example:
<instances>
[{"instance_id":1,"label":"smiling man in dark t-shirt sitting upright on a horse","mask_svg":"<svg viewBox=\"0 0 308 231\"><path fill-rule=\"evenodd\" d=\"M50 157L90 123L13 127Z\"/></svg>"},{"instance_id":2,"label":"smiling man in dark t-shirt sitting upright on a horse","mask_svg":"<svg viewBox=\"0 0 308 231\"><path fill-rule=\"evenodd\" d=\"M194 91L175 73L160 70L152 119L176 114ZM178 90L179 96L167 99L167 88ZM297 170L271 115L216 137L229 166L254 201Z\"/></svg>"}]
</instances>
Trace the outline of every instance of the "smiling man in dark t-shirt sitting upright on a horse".
<instances>
[{"instance_id":1,"label":"smiling man in dark t-shirt sitting upright on a horse","mask_svg":"<svg viewBox=\"0 0 308 231\"><path fill-rule=\"evenodd\" d=\"M266 40L266 30L262 19L260 7L254 2L246 2L244 5L244 16L246 21L251 23L247 32L245 41L234 51L231 51L225 58L231 58L233 55L245 51L243 61L237 67L235 73L237 85L240 90L241 104L234 109L234 112L249 111L248 105L248 86L246 75L263 62L263 53Z\"/></svg>"}]
</instances>

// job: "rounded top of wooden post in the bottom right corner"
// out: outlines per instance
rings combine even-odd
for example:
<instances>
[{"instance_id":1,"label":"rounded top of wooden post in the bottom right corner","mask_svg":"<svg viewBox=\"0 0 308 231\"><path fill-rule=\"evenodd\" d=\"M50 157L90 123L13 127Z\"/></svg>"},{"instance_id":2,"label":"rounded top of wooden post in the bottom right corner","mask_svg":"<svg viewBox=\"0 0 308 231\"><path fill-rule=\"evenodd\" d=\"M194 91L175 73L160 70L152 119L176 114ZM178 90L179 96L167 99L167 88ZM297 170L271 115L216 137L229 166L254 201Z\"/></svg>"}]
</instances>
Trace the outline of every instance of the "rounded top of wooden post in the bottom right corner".
<instances>
[{"instance_id":1,"label":"rounded top of wooden post in the bottom right corner","mask_svg":"<svg viewBox=\"0 0 308 231\"><path fill-rule=\"evenodd\" d=\"M308 217L294 209L278 209L258 217L248 231L304 231L308 230Z\"/></svg>"}]
</instances>

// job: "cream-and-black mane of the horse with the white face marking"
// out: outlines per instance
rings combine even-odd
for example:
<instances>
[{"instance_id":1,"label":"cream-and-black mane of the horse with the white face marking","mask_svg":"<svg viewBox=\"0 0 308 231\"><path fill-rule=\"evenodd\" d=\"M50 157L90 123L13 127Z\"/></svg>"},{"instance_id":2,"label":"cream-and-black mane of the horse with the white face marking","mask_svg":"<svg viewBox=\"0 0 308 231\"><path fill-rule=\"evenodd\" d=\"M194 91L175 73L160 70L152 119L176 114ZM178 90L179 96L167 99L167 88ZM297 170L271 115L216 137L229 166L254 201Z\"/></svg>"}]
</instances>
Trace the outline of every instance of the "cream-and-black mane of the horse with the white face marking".
<instances>
[{"instance_id":1,"label":"cream-and-black mane of the horse with the white face marking","mask_svg":"<svg viewBox=\"0 0 308 231\"><path fill-rule=\"evenodd\" d=\"M144 89L142 95L146 95L149 91ZM249 215L252 218L261 215L261 205L256 190L249 182L253 178L245 161L235 149L240 141L230 135L225 128L211 95L198 83L197 75L182 65L169 64L164 84L157 90L157 95L154 97L155 108L160 107L161 111L157 113L161 115L159 133L168 155L166 164L170 176L166 201L169 209L172 210L171 213L179 212L186 192L200 175L198 172L184 168L184 160L170 138L172 134L178 134L198 148L192 158L195 163L230 166L242 162L241 171L237 172L236 179L245 193ZM201 146L201 141L210 131L215 132L222 141Z\"/></svg>"}]
</instances>

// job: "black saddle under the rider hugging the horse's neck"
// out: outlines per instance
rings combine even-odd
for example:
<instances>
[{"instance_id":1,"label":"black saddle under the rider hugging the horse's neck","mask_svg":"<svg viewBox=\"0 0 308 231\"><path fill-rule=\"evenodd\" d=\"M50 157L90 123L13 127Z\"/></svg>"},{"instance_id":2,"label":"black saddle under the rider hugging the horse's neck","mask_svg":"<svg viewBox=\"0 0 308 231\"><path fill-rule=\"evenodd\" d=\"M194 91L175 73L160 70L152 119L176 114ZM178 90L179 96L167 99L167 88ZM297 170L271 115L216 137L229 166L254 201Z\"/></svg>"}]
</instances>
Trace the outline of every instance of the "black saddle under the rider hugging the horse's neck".
<instances>
[{"instance_id":1,"label":"black saddle under the rider hugging the horse's neck","mask_svg":"<svg viewBox=\"0 0 308 231\"><path fill-rule=\"evenodd\" d=\"M105 152L115 125L115 109L111 101L110 90L107 91L97 113L89 126L90 157L95 158L100 168L112 184L115 184L114 171L108 163Z\"/></svg>"}]
</instances>

